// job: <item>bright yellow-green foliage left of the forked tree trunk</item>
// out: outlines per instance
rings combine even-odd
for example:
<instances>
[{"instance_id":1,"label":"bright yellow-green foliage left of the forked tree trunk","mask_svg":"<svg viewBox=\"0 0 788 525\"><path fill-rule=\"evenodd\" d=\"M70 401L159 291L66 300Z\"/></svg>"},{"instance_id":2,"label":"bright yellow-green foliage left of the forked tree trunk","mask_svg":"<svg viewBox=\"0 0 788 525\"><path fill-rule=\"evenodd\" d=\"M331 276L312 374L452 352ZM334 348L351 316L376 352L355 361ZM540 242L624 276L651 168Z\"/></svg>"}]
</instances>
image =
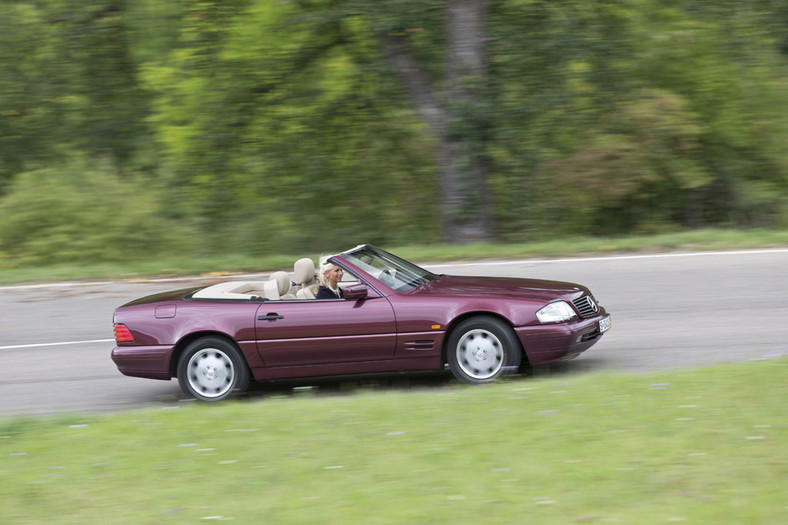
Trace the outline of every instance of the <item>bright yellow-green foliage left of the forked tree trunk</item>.
<instances>
[{"instance_id":1,"label":"bright yellow-green foliage left of the forked tree trunk","mask_svg":"<svg viewBox=\"0 0 788 525\"><path fill-rule=\"evenodd\" d=\"M170 182L228 249L434 236L429 150L401 105L377 100L365 21L332 13L193 14L189 45L145 71Z\"/></svg>"}]
</instances>

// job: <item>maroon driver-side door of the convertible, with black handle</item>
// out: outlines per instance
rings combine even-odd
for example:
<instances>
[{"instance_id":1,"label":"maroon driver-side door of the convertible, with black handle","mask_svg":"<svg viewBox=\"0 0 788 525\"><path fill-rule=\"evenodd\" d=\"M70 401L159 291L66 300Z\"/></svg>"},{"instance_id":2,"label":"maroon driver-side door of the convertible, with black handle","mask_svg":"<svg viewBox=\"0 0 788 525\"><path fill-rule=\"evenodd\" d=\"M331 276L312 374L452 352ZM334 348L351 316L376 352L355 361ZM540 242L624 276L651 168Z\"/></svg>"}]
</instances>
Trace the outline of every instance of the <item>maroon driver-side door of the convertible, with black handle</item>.
<instances>
[{"instance_id":1,"label":"maroon driver-side door of the convertible, with black handle","mask_svg":"<svg viewBox=\"0 0 788 525\"><path fill-rule=\"evenodd\" d=\"M392 359L394 309L369 290L360 300L269 301L257 311L257 348L267 367Z\"/></svg>"}]
</instances>

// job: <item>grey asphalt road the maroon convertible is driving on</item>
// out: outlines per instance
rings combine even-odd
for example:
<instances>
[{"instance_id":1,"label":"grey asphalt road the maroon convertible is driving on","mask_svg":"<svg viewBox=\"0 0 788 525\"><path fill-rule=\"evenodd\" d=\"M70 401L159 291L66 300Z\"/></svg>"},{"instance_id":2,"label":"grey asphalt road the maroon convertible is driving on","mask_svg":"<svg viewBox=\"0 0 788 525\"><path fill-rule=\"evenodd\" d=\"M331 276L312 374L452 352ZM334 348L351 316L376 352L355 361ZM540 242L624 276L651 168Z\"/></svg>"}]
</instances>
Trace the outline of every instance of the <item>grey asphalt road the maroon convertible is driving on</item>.
<instances>
[{"instance_id":1,"label":"grey asphalt road the maroon convertible is driving on","mask_svg":"<svg viewBox=\"0 0 788 525\"><path fill-rule=\"evenodd\" d=\"M428 265L438 273L579 282L613 314L586 354L551 368L645 372L788 355L788 250ZM112 311L195 279L0 287L0 417L184 402L177 381L122 376ZM252 394L264 395L264 394Z\"/></svg>"}]
</instances>

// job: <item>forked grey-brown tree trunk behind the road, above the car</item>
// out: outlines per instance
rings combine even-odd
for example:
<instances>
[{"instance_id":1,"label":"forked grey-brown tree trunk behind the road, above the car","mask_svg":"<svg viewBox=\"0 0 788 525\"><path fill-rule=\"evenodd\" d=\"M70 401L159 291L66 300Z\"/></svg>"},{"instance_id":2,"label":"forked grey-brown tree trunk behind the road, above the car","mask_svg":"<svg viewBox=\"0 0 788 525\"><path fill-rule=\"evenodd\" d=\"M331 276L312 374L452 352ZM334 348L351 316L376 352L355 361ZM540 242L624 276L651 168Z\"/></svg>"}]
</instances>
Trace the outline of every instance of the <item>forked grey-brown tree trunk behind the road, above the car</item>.
<instances>
[{"instance_id":1,"label":"forked grey-brown tree trunk behind the road, above the car","mask_svg":"<svg viewBox=\"0 0 788 525\"><path fill-rule=\"evenodd\" d=\"M478 142L478 122L468 120L484 96L487 62L484 21L488 0L450 0L446 7L445 87L430 83L400 37L387 37L384 52L439 146L440 213L449 243L490 240L488 164ZM462 121L464 136L456 126ZM467 130L471 130L470 133ZM472 136L469 136L472 135ZM475 141L475 142L474 142Z\"/></svg>"}]
</instances>

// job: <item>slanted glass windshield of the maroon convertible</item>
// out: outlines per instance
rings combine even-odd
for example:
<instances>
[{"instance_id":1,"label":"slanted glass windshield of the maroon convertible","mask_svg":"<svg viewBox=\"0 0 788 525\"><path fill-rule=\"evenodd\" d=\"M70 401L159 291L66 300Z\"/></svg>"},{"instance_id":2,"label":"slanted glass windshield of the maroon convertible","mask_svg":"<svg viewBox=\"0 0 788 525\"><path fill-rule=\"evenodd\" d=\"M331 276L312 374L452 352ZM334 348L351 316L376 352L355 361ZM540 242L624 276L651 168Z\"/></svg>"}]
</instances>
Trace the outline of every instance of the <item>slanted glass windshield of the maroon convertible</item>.
<instances>
[{"instance_id":1,"label":"slanted glass windshield of the maroon convertible","mask_svg":"<svg viewBox=\"0 0 788 525\"><path fill-rule=\"evenodd\" d=\"M437 277L424 268L374 246L362 246L343 253L341 257L398 292L407 292Z\"/></svg>"}]
</instances>

